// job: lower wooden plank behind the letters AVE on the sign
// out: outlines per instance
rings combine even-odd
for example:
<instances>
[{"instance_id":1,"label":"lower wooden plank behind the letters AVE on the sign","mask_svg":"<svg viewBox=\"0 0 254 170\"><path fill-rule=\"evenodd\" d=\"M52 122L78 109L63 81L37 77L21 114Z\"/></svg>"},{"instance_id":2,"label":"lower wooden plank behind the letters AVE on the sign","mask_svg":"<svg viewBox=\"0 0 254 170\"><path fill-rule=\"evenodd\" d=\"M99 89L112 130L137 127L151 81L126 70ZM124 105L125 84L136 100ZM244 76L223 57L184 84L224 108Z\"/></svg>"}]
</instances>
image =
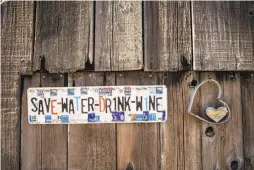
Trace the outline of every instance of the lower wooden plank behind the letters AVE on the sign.
<instances>
[{"instance_id":1,"label":"lower wooden plank behind the letters AVE on the sign","mask_svg":"<svg viewBox=\"0 0 254 170\"><path fill-rule=\"evenodd\" d=\"M63 87L64 75L42 73L41 86ZM68 125L42 125L39 152L42 169L67 169L67 139Z\"/></svg>"}]
</instances>

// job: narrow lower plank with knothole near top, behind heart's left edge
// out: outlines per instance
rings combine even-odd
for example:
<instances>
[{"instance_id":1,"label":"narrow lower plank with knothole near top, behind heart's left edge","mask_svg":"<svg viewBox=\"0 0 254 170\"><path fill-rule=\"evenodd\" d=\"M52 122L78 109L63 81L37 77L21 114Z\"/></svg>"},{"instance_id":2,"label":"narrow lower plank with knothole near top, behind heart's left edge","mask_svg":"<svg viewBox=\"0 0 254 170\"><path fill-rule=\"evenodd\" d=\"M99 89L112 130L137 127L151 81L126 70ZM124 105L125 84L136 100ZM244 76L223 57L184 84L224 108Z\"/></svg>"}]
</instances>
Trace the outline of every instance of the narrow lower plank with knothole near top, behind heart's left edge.
<instances>
[{"instance_id":1,"label":"narrow lower plank with knothole near top, behind heart's left edge","mask_svg":"<svg viewBox=\"0 0 254 170\"><path fill-rule=\"evenodd\" d=\"M195 81L198 81L199 73L186 72L182 77L183 89L183 112L184 112L184 168L185 169L202 169L202 146L201 146L201 121L188 113L190 97L194 91ZM195 101L200 99L198 93ZM181 103L181 101L180 101ZM199 111L199 103L192 106L192 110Z\"/></svg>"}]
</instances>

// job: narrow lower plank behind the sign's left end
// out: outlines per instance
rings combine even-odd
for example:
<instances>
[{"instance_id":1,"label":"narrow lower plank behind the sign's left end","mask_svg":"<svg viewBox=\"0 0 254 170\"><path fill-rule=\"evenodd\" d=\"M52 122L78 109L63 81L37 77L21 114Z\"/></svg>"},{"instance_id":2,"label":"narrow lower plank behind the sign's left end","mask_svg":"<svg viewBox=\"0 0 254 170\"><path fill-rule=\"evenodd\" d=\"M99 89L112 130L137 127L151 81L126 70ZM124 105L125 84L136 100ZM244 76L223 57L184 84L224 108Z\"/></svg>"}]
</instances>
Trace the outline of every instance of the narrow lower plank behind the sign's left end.
<instances>
[{"instance_id":1,"label":"narrow lower plank behind the sign's left end","mask_svg":"<svg viewBox=\"0 0 254 170\"><path fill-rule=\"evenodd\" d=\"M40 86L40 74L36 73L32 77L24 78L24 88L22 92L21 108L21 152L20 168L39 169L41 167L41 126L30 125L27 113L27 89L29 87ZM19 166L18 166L19 167Z\"/></svg>"}]
</instances>

